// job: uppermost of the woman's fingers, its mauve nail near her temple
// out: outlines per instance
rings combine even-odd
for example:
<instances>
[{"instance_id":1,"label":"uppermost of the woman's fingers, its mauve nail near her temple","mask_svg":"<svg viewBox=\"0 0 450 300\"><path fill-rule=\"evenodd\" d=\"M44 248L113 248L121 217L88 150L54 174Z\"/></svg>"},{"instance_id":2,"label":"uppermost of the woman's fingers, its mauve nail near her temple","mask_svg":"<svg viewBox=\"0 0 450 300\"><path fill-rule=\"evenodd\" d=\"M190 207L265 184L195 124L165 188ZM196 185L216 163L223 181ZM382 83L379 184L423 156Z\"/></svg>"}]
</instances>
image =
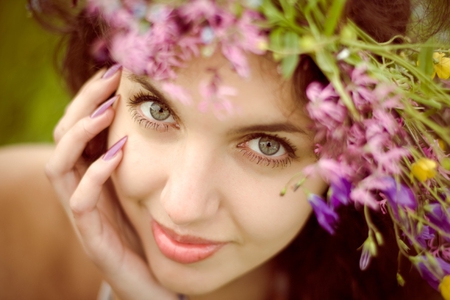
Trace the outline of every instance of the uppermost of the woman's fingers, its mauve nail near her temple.
<instances>
[{"instance_id":1,"label":"uppermost of the woman's fingers, its mauve nail near her temple","mask_svg":"<svg viewBox=\"0 0 450 300\"><path fill-rule=\"evenodd\" d=\"M120 70L120 65L114 65L106 72L101 70L83 85L53 131L53 138L56 142L59 142L62 136L79 119L89 115L101 102L117 90Z\"/></svg>"}]
</instances>

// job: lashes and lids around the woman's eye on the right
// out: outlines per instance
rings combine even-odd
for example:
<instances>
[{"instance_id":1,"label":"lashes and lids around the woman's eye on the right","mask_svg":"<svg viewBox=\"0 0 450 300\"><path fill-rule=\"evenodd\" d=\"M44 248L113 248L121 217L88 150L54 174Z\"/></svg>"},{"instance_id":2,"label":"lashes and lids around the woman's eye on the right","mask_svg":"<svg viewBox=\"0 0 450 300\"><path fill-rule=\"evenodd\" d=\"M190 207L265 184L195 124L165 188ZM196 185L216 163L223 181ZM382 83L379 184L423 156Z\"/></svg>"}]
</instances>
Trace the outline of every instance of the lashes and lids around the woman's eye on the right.
<instances>
[{"instance_id":1,"label":"lashes and lids around the woman's eye on the right","mask_svg":"<svg viewBox=\"0 0 450 300\"><path fill-rule=\"evenodd\" d=\"M272 158L270 156L263 156L252 150L247 150L246 148L244 148L244 144L246 144L247 142L249 142L253 139L258 139L258 138L263 138L263 137L268 137L270 139L273 139L273 140L279 142L286 150L287 157ZM257 165L265 164L266 167L272 166L272 168L278 168L278 167L285 168L285 167L288 167L292 163L293 159L297 158L297 156L295 155L296 147L294 145L292 145L287 139L282 138L276 134L274 134L274 135L262 134L262 133L251 134L250 136L246 137L244 142L238 144L238 148L240 148L240 152L245 157L247 157L251 162L255 162Z\"/></svg>"}]
</instances>

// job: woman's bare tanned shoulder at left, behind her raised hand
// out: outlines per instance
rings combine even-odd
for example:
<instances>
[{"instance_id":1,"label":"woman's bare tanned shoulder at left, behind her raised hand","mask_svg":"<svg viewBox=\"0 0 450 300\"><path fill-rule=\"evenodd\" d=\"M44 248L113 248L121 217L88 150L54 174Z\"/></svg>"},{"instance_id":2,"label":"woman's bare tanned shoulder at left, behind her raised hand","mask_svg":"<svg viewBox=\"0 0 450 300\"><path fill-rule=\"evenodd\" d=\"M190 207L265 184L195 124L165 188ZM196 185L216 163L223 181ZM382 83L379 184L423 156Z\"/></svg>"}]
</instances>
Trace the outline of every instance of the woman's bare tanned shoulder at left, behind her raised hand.
<instances>
[{"instance_id":1,"label":"woman's bare tanned shoulder at left, behind her raised hand","mask_svg":"<svg viewBox=\"0 0 450 300\"><path fill-rule=\"evenodd\" d=\"M0 148L2 299L95 299L100 278L44 173L53 149Z\"/></svg>"}]
</instances>

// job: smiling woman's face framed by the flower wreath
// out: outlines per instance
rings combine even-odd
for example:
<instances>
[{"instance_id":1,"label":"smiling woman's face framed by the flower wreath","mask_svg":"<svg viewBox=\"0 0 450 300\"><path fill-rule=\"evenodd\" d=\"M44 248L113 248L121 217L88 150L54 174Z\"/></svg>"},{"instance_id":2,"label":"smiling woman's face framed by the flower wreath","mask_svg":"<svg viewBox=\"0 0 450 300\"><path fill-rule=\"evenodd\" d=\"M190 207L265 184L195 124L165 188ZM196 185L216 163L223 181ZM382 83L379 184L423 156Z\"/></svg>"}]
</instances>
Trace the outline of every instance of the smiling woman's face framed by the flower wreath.
<instances>
[{"instance_id":1,"label":"smiling woman's face framed by the flower wreath","mask_svg":"<svg viewBox=\"0 0 450 300\"><path fill-rule=\"evenodd\" d=\"M120 203L155 277L180 293L205 294L258 270L297 235L311 208L302 191L281 189L315 161L309 120L293 104L276 66L251 56L250 79L220 55L194 59L175 84L184 105L160 82L124 70L109 144L128 135L113 175ZM234 113L201 112L199 86L218 71ZM309 192L324 184L310 178Z\"/></svg>"}]
</instances>

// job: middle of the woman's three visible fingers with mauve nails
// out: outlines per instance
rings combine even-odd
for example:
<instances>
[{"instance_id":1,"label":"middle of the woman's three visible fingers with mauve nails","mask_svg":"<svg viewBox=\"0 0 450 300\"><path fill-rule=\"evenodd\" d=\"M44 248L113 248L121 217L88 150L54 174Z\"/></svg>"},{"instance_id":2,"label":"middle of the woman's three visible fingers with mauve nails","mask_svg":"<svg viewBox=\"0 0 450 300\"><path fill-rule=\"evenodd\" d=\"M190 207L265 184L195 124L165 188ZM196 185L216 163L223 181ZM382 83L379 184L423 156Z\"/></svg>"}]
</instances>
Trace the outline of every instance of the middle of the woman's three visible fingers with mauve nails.
<instances>
[{"instance_id":1,"label":"middle of the woman's three visible fingers with mauve nails","mask_svg":"<svg viewBox=\"0 0 450 300\"><path fill-rule=\"evenodd\" d=\"M89 117L79 120L60 140L52 159L47 163L47 176L57 180L73 170L87 143L108 127L114 117L111 105L119 99L114 96L101 105Z\"/></svg>"}]
</instances>

